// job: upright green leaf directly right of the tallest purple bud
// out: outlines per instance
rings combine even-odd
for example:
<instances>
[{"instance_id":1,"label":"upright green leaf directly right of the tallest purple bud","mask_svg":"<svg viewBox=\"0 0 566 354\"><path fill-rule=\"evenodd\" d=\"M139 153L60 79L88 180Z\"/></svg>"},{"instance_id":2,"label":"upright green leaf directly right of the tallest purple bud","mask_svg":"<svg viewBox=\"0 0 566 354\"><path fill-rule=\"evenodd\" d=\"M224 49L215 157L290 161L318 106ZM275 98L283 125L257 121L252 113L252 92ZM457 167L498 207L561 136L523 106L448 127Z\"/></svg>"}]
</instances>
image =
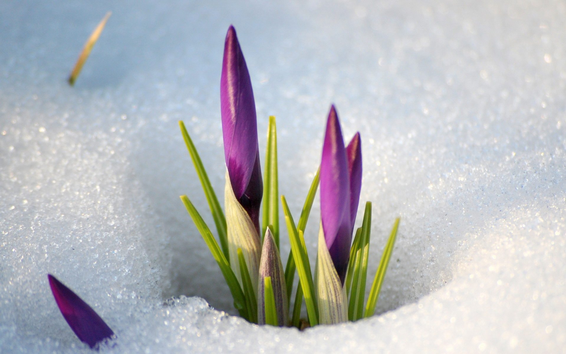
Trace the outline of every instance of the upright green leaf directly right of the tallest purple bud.
<instances>
[{"instance_id":1,"label":"upright green leaf directly right of the tallest purple bud","mask_svg":"<svg viewBox=\"0 0 566 354\"><path fill-rule=\"evenodd\" d=\"M263 193L263 215L261 240L265 235L267 225L272 225L273 239L279 249L279 182L277 176L277 127L275 117L269 116L267 129L267 148L265 148L265 173Z\"/></svg>"}]
</instances>

